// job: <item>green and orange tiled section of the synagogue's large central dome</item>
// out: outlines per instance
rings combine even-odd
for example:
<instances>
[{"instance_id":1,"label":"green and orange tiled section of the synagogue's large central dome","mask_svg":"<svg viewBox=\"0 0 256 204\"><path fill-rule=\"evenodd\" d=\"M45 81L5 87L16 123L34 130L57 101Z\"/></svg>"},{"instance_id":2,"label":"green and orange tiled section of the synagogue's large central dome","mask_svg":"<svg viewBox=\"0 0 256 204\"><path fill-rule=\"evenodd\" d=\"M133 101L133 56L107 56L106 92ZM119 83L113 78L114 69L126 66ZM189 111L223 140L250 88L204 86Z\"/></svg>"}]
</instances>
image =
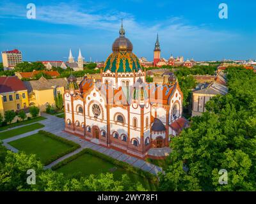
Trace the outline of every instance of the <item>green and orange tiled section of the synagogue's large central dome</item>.
<instances>
[{"instance_id":1,"label":"green and orange tiled section of the synagogue's large central dome","mask_svg":"<svg viewBox=\"0 0 256 204\"><path fill-rule=\"evenodd\" d=\"M139 59L132 52L116 52L109 55L105 62L104 71L133 72L139 71L141 65Z\"/></svg>"}]
</instances>

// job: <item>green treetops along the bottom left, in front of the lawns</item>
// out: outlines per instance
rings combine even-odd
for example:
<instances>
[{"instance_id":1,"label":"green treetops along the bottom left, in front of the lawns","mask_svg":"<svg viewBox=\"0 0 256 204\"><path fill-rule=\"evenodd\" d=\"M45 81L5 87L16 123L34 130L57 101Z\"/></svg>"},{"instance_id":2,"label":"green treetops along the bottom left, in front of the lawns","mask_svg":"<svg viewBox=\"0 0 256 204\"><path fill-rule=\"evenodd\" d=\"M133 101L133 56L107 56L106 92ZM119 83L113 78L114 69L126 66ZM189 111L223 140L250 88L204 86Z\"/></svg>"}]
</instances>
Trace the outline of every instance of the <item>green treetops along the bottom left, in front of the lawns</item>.
<instances>
[{"instance_id":1,"label":"green treetops along the bottom left, in front of the lawns","mask_svg":"<svg viewBox=\"0 0 256 204\"><path fill-rule=\"evenodd\" d=\"M70 178L43 168L35 154L14 153L0 145L0 191L145 191L140 182L131 181L127 175L120 180L112 173ZM26 182L29 169L36 172L36 184Z\"/></svg>"}]
</instances>

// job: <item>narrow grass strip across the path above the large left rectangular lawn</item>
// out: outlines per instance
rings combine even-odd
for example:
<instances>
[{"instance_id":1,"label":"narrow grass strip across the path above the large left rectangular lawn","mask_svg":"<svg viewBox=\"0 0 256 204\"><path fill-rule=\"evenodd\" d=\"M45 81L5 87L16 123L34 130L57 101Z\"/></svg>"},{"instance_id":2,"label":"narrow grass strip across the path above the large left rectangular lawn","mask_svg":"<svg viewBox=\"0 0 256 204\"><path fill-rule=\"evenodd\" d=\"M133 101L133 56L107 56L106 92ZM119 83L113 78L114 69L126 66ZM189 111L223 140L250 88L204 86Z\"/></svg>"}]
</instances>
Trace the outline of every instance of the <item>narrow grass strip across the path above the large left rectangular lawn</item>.
<instances>
[{"instance_id":1,"label":"narrow grass strip across the path above the large left rectangular lawn","mask_svg":"<svg viewBox=\"0 0 256 204\"><path fill-rule=\"evenodd\" d=\"M4 140L4 139L10 138L12 136L21 135L23 133L28 133L30 131L33 131L35 129L40 129L40 128L44 128L44 125L40 124L40 123L35 123L35 124L31 124L31 125L24 126L21 128L15 128L15 129L11 129L9 131L4 131L4 132L0 133L0 140Z\"/></svg>"}]
</instances>

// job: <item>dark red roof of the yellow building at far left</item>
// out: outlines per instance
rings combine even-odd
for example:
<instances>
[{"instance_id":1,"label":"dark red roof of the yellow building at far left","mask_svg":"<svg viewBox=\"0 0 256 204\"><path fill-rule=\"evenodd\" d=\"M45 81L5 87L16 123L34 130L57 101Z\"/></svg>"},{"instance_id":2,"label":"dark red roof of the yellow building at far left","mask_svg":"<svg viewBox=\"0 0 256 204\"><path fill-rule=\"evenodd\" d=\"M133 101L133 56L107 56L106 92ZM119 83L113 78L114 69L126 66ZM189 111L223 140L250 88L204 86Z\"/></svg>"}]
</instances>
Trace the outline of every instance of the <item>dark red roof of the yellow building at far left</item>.
<instances>
[{"instance_id":1,"label":"dark red roof of the yellow building at far left","mask_svg":"<svg viewBox=\"0 0 256 204\"><path fill-rule=\"evenodd\" d=\"M22 80L18 77L0 77L0 93L12 92L12 91L22 91L27 88L23 84Z\"/></svg>"}]
</instances>

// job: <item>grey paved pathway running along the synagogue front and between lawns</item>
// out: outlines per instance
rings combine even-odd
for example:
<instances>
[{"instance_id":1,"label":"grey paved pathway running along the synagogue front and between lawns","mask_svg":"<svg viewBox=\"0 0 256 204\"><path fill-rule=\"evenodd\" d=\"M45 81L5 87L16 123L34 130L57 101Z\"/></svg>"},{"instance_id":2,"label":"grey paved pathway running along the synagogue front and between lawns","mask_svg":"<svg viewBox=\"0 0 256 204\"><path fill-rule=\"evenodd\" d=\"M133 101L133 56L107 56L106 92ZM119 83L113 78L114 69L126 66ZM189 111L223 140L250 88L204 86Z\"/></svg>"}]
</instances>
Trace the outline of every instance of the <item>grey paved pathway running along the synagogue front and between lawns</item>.
<instances>
[{"instance_id":1,"label":"grey paved pathway running along the synagogue front and between lawns","mask_svg":"<svg viewBox=\"0 0 256 204\"><path fill-rule=\"evenodd\" d=\"M97 152L101 152L110 157L118 159L120 161L124 161L125 163L129 163L132 166L135 166L137 168L141 168L141 170L153 173L154 175L157 175L157 173L159 171L163 171L161 167L156 166L151 163L147 163L146 161L144 161L142 159L138 159L136 157L129 156L127 154L124 154L123 152L119 152L118 150L107 149L106 147L102 147L95 143L88 142L87 140L83 140L83 139L79 138L78 136L74 136L72 134L64 132L63 129L65 128L65 124L64 124L62 118L56 117L54 115L49 115L47 113L41 113L41 115L43 117L47 118L45 120L39 121L41 124L45 125L45 127L41 128L41 129L43 129L44 131L51 132L52 134L60 136L62 138L66 138L67 140L72 140L73 142L79 143L81 145L81 148L75 150L74 152L66 154L63 157L60 157L53 163L45 166L45 168L51 168L52 166L59 163L60 161L63 161L63 159L66 159L67 157L70 157L85 148L90 148L90 149L96 150ZM13 140L18 140L20 138L24 138L29 135L33 135L37 132L38 132L38 129L35 131L31 131L29 133L24 133L22 135L13 136L12 138L7 138L6 140L3 140L3 145L8 149L13 150L13 152L17 152L17 149L14 149L12 146L8 145L8 142L11 142Z\"/></svg>"}]
</instances>

